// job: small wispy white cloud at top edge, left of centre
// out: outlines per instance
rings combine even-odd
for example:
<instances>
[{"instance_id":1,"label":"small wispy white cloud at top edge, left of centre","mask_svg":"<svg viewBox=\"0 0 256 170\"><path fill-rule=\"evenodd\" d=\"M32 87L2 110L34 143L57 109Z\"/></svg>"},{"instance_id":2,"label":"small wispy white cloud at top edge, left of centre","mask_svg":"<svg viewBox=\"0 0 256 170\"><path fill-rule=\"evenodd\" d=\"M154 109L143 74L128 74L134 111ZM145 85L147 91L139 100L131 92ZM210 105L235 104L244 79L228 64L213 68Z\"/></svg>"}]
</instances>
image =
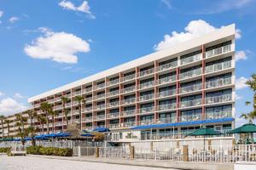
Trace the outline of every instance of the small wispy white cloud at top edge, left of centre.
<instances>
[{"instance_id":1,"label":"small wispy white cloud at top edge, left of centre","mask_svg":"<svg viewBox=\"0 0 256 170\"><path fill-rule=\"evenodd\" d=\"M87 1L84 1L80 6L76 7L72 2L63 0L59 5L67 10L78 11L87 14L90 19L96 19L95 15L91 13L90 6Z\"/></svg>"}]
</instances>

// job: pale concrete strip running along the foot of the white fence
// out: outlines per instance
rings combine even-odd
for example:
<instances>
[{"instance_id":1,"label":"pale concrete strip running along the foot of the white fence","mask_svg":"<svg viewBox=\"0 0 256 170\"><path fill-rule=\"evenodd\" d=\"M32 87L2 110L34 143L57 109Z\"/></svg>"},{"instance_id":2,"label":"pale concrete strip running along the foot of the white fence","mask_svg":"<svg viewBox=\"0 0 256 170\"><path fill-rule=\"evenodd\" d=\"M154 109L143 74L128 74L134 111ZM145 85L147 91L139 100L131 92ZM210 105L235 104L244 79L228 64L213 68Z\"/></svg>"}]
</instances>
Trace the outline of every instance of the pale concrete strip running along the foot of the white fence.
<instances>
[{"instance_id":1,"label":"pale concrete strip running along the foot of the white fence","mask_svg":"<svg viewBox=\"0 0 256 170\"><path fill-rule=\"evenodd\" d=\"M222 164L222 163L199 163L199 162L184 162L184 161L151 161L151 160L130 160L130 159L109 159L109 158L96 158L88 156L33 156L47 159L69 160L69 161L90 161L90 162L102 162L110 164L130 165L130 166L143 166L143 167L164 167L173 169L195 169L195 170L233 170L234 164Z\"/></svg>"}]
</instances>

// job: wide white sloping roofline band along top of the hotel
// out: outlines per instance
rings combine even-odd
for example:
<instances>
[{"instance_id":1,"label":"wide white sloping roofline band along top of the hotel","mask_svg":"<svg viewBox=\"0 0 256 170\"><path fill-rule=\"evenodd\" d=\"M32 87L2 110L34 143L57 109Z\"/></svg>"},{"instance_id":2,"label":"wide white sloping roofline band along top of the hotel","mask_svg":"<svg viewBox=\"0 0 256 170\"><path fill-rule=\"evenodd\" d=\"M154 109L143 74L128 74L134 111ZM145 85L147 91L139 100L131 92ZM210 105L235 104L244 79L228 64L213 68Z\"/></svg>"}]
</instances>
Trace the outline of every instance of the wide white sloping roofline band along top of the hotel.
<instances>
[{"instance_id":1,"label":"wide white sloping roofline band along top of the hotel","mask_svg":"<svg viewBox=\"0 0 256 170\"><path fill-rule=\"evenodd\" d=\"M29 98L28 103L32 103L33 101L36 101L38 99L46 98L50 95L59 94L68 89L76 88L76 87L86 84L88 82L96 81L98 79L101 79L102 77L109 77L109 76L117 74L121 71L125 71L125 70L129 70L131 68L134 68L136 66L145 65L145 64L148 64L149 62L153 62L155 60L162 59L167 56L179 54L183 51L189 50L190 48L199 47L199 46L201 46L201 44L205 44L208 42L214 42L214 41L217 41L218 39L225 38L225 37L235 38L235 33L236 33L235 24L231 24L230 26L224 26L221 29L212 31L211 33L209 33L207 35L204 35L201 37L196 37L187 42L178 43L176 46L173 46L172 48L166 48L166 49L154 52L152 54L144 55L143 57L140 57L138 59L133 59L133 60L126 62L122 65L114 66L106 71L101 71L101 72L91 75L89 77L84 77L78 81L67 83L66 85L63 85L59 88L54 88L54 89L44 92L42 94L38 94L36 96Z\"/></svg>"}]
</instances>

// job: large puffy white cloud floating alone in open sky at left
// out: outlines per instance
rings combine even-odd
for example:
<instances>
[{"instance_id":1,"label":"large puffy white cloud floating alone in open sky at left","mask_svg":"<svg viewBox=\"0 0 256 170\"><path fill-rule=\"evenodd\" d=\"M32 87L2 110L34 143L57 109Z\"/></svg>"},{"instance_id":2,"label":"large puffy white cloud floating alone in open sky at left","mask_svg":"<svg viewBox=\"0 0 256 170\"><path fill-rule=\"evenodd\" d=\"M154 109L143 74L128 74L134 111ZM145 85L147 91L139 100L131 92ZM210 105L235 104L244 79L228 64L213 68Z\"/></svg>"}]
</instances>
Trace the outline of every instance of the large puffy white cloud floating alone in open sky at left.
<instances>
[{"instance_id":1,"label":"large puffy white cloud floating alone in open sky at left","mask_svg":"<svg viewBox=\"0 0 256 170\"><path fill-rule=\"evenodd\" d=\"M39 28L43 37L26 44L24 51L33 59L51 59L59 63L75 64L78 62L77 53L90 52L90 45L82 38L64 31L54 32L48 28Z\"/></svg>"}]
</instances>

